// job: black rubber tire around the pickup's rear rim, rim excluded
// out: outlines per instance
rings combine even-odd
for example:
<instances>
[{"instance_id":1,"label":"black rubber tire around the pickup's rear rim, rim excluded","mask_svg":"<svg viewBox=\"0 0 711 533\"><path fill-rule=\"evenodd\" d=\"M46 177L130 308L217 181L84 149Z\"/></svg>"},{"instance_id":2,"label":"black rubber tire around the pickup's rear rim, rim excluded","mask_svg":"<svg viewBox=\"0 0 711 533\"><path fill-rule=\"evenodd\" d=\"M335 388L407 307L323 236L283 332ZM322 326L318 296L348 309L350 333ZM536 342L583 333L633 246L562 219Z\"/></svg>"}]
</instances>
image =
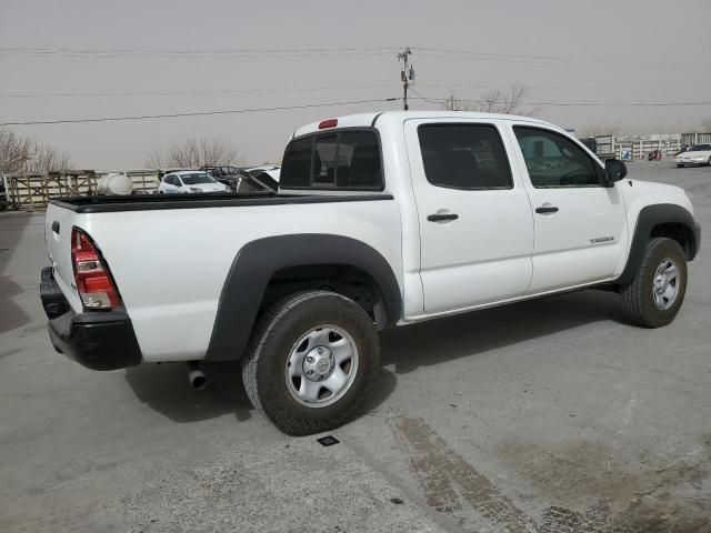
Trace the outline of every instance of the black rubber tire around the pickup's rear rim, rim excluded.
<instances>
[{"instance_id":1,"label":"black rubber tire around the pickup's rear rim, rim excluded","mask_svg":"<svg viewBox=\"0 0 711 533\"><path fill-rule=\"evenodd\" d=\"M331 324L348 332L358 349L350 386L334 403L307 406L287 385L287 361L294 344L314 328ZM292 294L258 321L242 361L250 402L289 435L310 435L350 421L363 405L380 368L380 343L372 319L352 300L333 292Z\"/></svg>"}]
</instances>

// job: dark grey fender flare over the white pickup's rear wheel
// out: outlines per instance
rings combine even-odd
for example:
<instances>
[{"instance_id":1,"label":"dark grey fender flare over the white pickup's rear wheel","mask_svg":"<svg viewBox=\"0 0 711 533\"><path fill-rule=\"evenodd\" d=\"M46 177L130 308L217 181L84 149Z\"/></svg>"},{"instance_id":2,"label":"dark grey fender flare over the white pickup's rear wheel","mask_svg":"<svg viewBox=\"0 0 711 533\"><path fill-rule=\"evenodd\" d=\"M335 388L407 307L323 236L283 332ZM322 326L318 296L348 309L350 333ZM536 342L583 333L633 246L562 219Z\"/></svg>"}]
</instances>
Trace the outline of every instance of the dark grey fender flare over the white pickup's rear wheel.
<instances>
[{"instance_id":1,"label":"dark grey fender flare over the white pickup's rear wheel","mask_svg":"<svg viewBox=\"0 0 711 533\"><path fill-rule=\"evenodd\" d=\"M400 285L385 258L372 247L348 237L323 233L257 239L242 247L232 261L220 293L204 361L241 359L271 278L286 268L313 264L354 266L367 272L378 284L388 324L400 320Z\"/></svg>"}]
</instances>

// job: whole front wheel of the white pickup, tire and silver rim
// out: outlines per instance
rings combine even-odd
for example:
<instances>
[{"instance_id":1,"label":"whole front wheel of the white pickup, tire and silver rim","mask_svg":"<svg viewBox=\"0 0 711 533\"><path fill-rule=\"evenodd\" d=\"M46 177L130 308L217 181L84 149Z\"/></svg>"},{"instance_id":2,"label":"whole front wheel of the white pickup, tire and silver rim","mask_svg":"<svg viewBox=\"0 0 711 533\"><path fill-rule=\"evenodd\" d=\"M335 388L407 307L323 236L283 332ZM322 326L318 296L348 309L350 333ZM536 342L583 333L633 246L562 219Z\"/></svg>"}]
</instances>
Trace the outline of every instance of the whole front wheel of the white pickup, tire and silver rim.
<instances>
[{"instance_id":1,"label":"whole front wheel of the white pickup, tire and silver rim","mask_svg":"<svg viewBox=\"0 0 711 533\"><path fill-rule=\"evenodd\" d=\"M624 313L638 325L669 324L687 292L687 257L672 239L652 239L632 281L621 286Z\"/></svg>"}]
</instances>

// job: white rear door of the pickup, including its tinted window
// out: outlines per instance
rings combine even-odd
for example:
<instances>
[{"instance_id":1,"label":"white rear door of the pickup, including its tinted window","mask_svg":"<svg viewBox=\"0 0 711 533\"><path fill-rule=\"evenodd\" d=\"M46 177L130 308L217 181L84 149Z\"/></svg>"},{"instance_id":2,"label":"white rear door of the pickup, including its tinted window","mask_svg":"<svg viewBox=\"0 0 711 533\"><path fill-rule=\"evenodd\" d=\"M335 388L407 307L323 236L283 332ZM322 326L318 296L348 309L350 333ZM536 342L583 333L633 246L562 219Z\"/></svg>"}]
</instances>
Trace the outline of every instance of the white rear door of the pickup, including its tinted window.
<instances>
[{"instance_id":1,"label":"white rear door of the pickup, including its tinted window","mask_svg":"<svg viewBox=\"0 0 711 533\"><path fill-rule=\"evenodd\" d=\"M409 120L404 128L425 313L523 295L533 220L499 122Z\"/></svg>"}]
</instances>

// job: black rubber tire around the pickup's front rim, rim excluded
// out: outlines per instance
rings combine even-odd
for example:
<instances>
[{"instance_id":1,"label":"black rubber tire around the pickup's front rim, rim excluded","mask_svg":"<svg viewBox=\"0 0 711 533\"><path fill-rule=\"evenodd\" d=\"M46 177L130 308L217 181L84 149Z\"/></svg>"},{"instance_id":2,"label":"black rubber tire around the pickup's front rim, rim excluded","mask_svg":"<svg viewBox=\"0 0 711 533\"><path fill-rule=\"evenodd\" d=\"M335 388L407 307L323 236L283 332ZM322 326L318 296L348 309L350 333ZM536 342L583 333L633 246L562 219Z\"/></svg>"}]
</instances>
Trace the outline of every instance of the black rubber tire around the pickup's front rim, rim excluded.
<instances>
[{"instance_id":1,"label":"black rubber tire around the pickup's front rim, rim excluded","mask_svg":"<svg viewBox=\"0 0 711 533\"><path fill-rule=\"evenodd\" d=\"M677 265L679 278L675 298L668 308L662 309L654 302L654 275L667 259ZM624 314L630 322L644 328L669 324L677 316L687 292L687 255L681 245L672 239L652 239L647 244L637 275L620 289Z\"/></svg>"}]
</instances>

